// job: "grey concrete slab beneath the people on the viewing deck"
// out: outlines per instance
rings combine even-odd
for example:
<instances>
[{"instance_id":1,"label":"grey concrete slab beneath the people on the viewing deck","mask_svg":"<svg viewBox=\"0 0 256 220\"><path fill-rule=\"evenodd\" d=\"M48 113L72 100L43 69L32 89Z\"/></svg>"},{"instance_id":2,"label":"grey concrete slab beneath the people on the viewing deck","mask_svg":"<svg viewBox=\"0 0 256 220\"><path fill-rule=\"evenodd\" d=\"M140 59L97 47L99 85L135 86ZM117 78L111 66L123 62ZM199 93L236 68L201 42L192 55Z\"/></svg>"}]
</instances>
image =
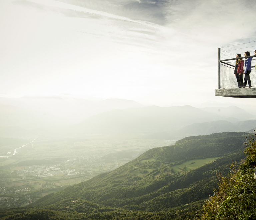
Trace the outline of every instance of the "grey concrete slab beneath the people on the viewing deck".
<instances>
[{"instance_id":1,"label":"grey concrete slab beneath the people on the viewing deck","mask_svg":"<svg viewBox=\"0 0 256 220\"><path fill-rule=\"evenodd\" d=\"M256 88L215 89L215 95L233 98L256 98Z\"/></svg>"}]
</instances>

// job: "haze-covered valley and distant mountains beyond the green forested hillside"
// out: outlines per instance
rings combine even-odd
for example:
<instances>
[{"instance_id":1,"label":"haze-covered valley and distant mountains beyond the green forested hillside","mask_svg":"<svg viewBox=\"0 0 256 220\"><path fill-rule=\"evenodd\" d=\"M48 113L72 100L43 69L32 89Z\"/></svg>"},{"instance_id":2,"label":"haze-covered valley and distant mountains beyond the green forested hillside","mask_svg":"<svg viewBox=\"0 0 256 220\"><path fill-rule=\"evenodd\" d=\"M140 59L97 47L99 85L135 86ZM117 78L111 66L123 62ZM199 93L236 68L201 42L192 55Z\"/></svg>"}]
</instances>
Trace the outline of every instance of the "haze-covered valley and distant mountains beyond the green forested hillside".
<instances>
[{"instance_id":1,"label":"haze-covered valley and distant mountains beyond the green forested hillside","mask_svg":"<svg viewBox=\"0 0 256 220\"><path fill-rule=\"evenodd\" d=\"M236 106L159 107L120 99L89 102L59 97L56 103L52 99L2 99L1 194L10 198L1 203L2 208L31 204L49 193L115 170L152 148L172 146L184 137L246 132L256 127L255 116ZM52 103L61 103L66 112L56 114L56 109L48 108L53 108ZM95 106L98 112L89 114ZM197 155L194 158L201 159L191 169L218 157ZM190 159L187 161L185 166L190 167ZM172 170L180 172L180 166L173 165Z\"/></svg>"}]
</instances>

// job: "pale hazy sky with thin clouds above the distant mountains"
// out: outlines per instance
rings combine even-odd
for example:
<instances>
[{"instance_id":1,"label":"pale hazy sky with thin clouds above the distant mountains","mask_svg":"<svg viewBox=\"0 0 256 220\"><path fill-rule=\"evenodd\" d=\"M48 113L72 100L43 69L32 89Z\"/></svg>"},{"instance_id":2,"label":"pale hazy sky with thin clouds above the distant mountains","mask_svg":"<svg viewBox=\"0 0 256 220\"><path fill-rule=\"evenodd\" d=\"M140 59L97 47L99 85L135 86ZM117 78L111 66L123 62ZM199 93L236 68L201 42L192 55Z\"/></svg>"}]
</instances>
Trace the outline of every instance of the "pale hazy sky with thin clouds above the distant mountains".
<instances>
[{"instance_id":1,"label":"pale hazy sky with thin clouds above the distant mountains","mask_svg":"<svg viewBox=\"0 0 256 220\"><path fill-rule=\"evenodd\" d=\"M256 40L255 9L252 0L1 0L0 97L254 103L215 89L218 47Z\"/></svg>"}]
</instances>

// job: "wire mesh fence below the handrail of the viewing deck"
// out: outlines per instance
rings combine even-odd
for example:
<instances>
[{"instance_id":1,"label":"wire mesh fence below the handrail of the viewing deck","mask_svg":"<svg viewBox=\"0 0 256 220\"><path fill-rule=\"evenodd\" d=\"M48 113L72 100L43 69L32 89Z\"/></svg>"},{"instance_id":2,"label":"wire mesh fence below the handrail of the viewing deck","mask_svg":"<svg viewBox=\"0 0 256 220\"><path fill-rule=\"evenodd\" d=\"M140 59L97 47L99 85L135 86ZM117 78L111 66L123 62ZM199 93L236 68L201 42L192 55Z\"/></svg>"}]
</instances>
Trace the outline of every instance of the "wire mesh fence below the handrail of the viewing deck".
<instances>
[{"instance_id":1,"label":"wire mesh fence below the handrail of the viewing deck","mask_svg":"<svg viewBox=\"0 0 256 220\"><path fill-rule=\"evenodd\" d=\"M244 59L243 59L244 60ZM251 86L256 87L256 70L255 70L256 57L252 59L252 70L250 73ZM225 61L220 64L220 87L221 88L238 88L241 79L234 74L236 60ZM238 74L239 75L239 74ZM244 83L245 75L243 74L242 80ZM248 88L248 82L246 88Z\"/></svg>"}]
</instances>

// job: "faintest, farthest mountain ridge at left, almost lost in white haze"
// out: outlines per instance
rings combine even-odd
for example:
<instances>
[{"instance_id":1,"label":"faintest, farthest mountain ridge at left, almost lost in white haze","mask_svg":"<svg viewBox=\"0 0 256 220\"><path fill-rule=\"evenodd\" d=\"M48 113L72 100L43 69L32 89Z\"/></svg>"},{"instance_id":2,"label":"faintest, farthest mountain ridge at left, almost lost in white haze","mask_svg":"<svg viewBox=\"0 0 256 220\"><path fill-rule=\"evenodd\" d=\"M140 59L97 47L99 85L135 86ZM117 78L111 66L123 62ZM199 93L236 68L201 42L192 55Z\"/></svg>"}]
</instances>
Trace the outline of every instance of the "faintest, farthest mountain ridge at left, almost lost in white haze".
<instances>
[{"instance_id":1,"label":"faintest, farthest mountain ridge at left, almost lost in white haze","mask_svg":"<svg viewBox=\"0 0 256 220\"><path fill-rule=\"evenodd\" d=\"M60 117L66 124L75 124L92 115L113 109L142 107L143 105L126 99L82 99L65 95L60 96L25 96L21 98L0 97L0 104L19 107L29 111L41 111ZM1 108L1 107L0 107Z\"/></svg>"}]
</instances>

